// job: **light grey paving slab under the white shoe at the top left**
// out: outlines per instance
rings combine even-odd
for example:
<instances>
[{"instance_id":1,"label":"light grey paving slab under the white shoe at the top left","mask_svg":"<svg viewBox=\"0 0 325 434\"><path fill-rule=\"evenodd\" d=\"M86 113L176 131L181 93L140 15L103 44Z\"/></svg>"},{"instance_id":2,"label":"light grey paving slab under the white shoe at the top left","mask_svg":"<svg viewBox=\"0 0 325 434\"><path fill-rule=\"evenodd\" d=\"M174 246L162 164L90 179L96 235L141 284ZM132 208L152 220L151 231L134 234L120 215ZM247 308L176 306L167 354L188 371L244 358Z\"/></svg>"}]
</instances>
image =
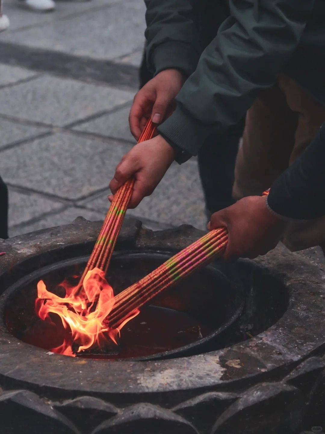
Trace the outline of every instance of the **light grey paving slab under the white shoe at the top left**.
<instances>
[{"instance_id":1,"label":"light grey paving slab under the white shoe at the top left","mask_svg":"<svg viewBox=\"0 0 325 434\"><path fill-rule=\"evenodd\" d=\"M6 30L6 34L11 34L13 31L26 28L33 25L48 24L56 20L61 20L63 16L71 13L87 12L90 9L102 5L109 6L109 3L115 3L116 0L92 0L92 1L55 1L55 11L49 13L39 13L26 9L17 0L6 0L3 5L3 11L10 19L10 27ZM2 36L2 35L1 35ZM1 39L0 36L0 39Z\"/></svg>"}]
</instances>

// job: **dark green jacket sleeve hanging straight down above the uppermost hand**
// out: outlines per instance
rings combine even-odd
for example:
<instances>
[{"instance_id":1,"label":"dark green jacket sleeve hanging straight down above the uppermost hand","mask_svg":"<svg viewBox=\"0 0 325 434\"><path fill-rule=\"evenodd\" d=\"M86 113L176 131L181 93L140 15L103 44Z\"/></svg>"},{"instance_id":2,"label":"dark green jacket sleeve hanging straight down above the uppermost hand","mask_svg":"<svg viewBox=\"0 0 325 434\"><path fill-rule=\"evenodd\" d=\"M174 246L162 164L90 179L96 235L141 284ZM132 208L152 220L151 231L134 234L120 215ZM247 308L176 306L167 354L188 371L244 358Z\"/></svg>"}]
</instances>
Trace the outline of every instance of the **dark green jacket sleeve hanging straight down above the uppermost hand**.
<instances>
[{"instance_id":1,"label":"dark green jacket sleeve hanging straight down above the uppermost hand","mask_svg":"<svg viewBox=\"0 0 325 434\"><path fill-rule=\"evenodd\" d=\"M145 0L146 56L154 74L168 68L190 76L203 49L197 28L196 0Z\"/></svg>"}]
</instances>

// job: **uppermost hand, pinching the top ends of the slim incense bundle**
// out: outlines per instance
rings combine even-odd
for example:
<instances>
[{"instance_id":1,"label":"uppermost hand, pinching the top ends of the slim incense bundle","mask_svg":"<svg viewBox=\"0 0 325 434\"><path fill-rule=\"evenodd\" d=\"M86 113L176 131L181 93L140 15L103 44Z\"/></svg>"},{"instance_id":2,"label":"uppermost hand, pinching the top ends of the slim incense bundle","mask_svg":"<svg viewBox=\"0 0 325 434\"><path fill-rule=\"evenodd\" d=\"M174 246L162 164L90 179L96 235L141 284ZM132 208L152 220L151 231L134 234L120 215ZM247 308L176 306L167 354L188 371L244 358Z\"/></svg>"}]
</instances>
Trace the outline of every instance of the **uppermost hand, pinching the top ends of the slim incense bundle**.
<instances>
[{"instance_id":1,"label":"uppermost hand, pinching the top ends of the slim incense bundle","mask_svg":"<svg viewBox=\"0 0 325 434\"><path fill-rule=\"evenodd\" d=\"M178 69L165 69L135 95L129 115L132 135L138 140L148 119L160 124L174 109L174 99L185 77Z\"/></svg>"}]
</instances>

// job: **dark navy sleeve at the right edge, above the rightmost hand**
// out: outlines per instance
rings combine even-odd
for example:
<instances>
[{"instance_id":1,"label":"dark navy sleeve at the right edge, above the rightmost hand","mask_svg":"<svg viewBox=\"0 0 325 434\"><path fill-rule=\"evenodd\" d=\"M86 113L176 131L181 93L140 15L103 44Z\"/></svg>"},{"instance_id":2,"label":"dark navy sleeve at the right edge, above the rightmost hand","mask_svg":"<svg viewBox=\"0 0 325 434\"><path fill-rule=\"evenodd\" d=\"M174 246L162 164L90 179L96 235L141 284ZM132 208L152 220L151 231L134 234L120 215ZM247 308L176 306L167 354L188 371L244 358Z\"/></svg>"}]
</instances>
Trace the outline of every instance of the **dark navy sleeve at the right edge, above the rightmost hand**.
<instances>
[{"instance_id":1,"label":"dark navy sleeve at the right edge, above the rightmost hand","mask_svg":"<svg viewBox=\"0 0 325 434\"><path fill-rule=\"evenodd\" d=\"M267 205L283 217L325 215L325 124L306 151L274 182Z\"/></svg>"}]
</instances>

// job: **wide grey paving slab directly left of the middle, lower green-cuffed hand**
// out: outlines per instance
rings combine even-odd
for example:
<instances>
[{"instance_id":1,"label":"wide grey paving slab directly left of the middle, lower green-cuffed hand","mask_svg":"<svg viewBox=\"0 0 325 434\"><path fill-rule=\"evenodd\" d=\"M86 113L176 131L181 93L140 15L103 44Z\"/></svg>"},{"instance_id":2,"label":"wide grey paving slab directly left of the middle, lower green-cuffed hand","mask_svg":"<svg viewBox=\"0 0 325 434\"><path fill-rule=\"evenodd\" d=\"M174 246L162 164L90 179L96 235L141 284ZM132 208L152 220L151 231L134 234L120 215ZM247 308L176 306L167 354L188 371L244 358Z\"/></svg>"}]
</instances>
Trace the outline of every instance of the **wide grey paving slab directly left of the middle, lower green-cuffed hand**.
<instances>
[{"instance_id":1,"label":"wide grey paving slab directly left of the middle, lower green-cuffed hand","mask_svg":"<svg viewBox=\"0 0 325 434\"><path fill-rule=\"evenodd\" d=\"M113 140L60 133L3 151L0 173L15 186L74 200L108 188L128 149Z\"/></svg>"}]
</instances>

